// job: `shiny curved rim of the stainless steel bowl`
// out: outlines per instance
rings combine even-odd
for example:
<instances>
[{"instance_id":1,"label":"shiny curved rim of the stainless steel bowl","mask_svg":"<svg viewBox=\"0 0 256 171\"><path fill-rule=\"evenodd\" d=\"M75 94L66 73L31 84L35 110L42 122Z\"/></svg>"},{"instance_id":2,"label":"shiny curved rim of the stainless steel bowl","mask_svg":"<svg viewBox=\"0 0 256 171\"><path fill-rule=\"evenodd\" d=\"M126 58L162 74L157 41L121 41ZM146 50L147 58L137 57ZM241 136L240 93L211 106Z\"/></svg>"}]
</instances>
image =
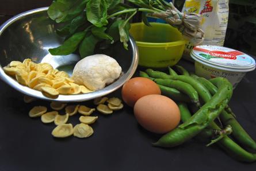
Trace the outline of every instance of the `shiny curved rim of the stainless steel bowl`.
<instances>
[{"instance_id":1,"label":"shiny curved rim of the stainless steel bowl","mask_svg":"<svg viewBox=\"0 0 256 171\"><path fill-rule=\"evenodd\" d=\"M35 14L35 13L38 13L40 11L46 11L46 10L48 10L48 7L41 7L41 8L25 11L23 13L20 13L18 15L15 15L14 17L10 18L9 20L4 22L0 26L0 38L1 38L1 35L4 32L4 30L8 26L13 24L15 21L17 21L20 18L25 17L27 15ZM116 80L114 83L106 86L105 88L103 88L102 90L99 90L99 91L94 91L94 92L90 92L88 94L79 94L79 95L59 95L58 98L51 99L51 98L47 98L46 96L44 96L40 91L36 91L36 90L33 90L32 88L21 85L16 80L12 79L12 77L6 75L6 73L2 69L1 64L0 64L0 78L3 81L5 81L7 84L9 84L11 87L16 89L17 91L20 91L22 94L32 96L32 97L35 97L35 98L39 98L39 99L43 99L43 100L49 100L49 101L55 101L55 102L82 102L82 101L86 101L86 100L91 100L91 99L94 99L94 98L98 98L98 97L101 97L101 96L108 95L111 92L116 91L126 81L131 79L131 77L135 73L135 71L137 69L137 65L139 63L138 48L137 48L135 40L133 40L131 35L129 36L129 42L130 42L131 48L132 48L133 59L132 59L132 64L129 67L128 71L126 73L124 73L124 75L121 76L120 79Z\"/></svg>"}]
</instances>

